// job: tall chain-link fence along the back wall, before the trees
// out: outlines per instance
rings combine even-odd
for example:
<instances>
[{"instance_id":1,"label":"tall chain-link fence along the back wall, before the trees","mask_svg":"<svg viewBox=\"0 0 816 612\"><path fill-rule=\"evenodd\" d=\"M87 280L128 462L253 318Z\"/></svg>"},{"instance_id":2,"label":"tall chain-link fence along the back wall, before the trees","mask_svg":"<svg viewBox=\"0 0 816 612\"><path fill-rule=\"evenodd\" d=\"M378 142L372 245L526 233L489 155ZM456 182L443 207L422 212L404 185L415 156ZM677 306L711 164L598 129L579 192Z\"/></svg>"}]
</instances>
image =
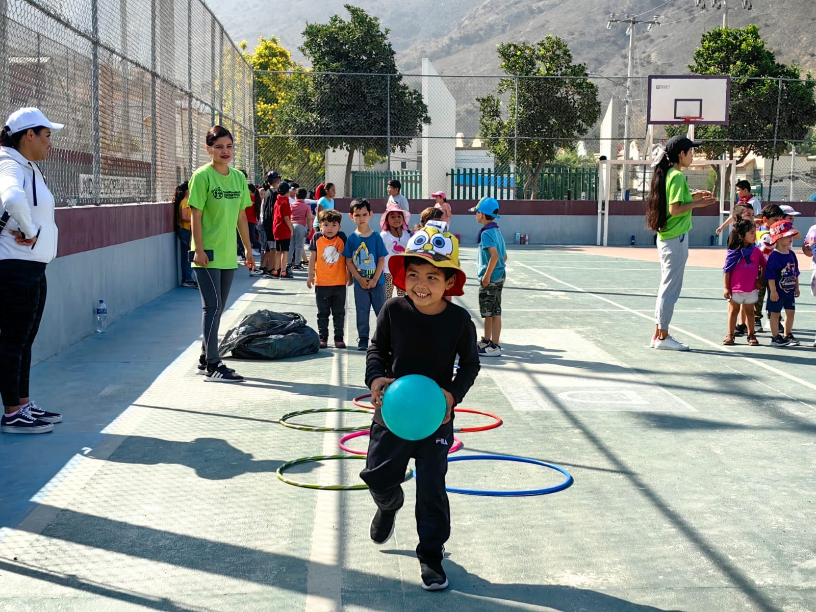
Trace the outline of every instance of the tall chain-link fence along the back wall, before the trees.
<instances>
[{"instance_id":1,"label":"tall chain-link fence along the back wall, before the trees","mask_svg":"<svg viewBox=\"0 0 816 612\"><path fill-rule=\"evenodd\" d=\"M686 129L649 129L647 78L448 76L428 63L424 74L255 76L256 103L274 109L257 122L259 173L332 182L339 197L387 197L396 178L409 197L594 199L599 157L650 157ZM737 178L765 200L808 199L813 91L809 79L732 79L730 126L697 126L697 153L736 159ZM695 186L716 192L720 167L695 168ZM649 171L616 170L619 197L647 195Z\"/></svg>"}]
</instances>

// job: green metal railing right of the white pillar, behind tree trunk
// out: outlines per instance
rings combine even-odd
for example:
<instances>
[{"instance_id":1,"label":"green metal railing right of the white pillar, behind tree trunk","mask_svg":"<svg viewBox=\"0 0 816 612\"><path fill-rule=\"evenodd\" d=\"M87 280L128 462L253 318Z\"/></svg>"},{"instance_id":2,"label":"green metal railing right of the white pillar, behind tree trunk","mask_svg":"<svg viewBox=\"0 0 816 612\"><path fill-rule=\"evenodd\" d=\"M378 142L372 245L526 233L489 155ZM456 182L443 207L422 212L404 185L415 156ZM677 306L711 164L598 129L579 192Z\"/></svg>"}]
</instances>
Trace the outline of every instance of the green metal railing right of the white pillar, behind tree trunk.
<instances>
[{"instance_id":1,"label":"green metal railing right of the white pillar, behind tree trunk","mask_svg":"<svg viewBox=\"0 0 816 612\"><path fill-rule=\"evenodd\" d=\"M482 197L521 199L526 184L524 172L494 171L491 168L455 168L450 171L450 198L478 200ZM518 193L516 193L518 188ZM597 199L598 169L592 167L548 166L539 174L532 200Z\"/></svg>"}]
</instances>

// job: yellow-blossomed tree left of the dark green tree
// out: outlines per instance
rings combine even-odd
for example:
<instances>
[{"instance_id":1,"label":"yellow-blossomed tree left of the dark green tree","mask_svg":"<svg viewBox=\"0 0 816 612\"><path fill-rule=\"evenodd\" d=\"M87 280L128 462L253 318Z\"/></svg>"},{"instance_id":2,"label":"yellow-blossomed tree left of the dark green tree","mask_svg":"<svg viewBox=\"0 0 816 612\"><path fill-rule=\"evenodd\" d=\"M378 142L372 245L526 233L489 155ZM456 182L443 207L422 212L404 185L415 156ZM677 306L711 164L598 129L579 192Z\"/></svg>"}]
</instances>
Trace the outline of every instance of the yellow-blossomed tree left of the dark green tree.
<instances>
[{"instance_id":1,"label":"yellow-blossomed tree left of the dark green tree","mask_svg":"<svg viewBox=\"0 0 816 612\"><path fill-rule=\"evenodd\" d=\"M259 134L258 159L261 171L277 170L284 176L317 184L322 177L326 149L309 149L282 122L283 108L290 101L294 77L286 71L303 70L276 37L258 39L252 52L241 42L246 61L255 69L255 131Z\"/></svg>"}]
</instances>

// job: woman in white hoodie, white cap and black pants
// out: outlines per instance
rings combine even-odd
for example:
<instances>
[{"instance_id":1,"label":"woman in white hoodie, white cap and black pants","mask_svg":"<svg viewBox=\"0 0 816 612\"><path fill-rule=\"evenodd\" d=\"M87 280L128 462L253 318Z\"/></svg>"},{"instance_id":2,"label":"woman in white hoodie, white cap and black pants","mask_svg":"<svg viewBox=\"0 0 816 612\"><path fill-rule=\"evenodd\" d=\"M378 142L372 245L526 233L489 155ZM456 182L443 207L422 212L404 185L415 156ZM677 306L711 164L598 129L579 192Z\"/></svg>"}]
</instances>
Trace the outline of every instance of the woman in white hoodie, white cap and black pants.
<instances>
[{"instance_id":1,"label":"woman in white hoodie, white cap and black pants","mask_svg":"<svg viewBox=\"0 0 816 612\"><path fill-rule=\"evenodd\" d=\"M39 109L11 113L0 134L0 431L44 433L62 420L29 397L31 346L46 304L46 264L56 255L54 197L37 166L51 132Z\"/></svg>"}]
</instances>

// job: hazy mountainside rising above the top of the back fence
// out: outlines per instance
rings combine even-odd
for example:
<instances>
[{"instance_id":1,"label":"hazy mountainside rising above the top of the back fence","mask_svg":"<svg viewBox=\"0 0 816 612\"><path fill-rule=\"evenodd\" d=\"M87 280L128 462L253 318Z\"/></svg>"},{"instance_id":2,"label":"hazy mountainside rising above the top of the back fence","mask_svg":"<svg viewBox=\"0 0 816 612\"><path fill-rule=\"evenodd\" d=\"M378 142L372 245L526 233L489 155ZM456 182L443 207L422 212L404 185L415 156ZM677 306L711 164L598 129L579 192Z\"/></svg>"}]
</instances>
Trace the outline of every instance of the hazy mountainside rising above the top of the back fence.
<instances>
[{"instance_id":1,"label":"hazy mountainside rising above the top of the back fence","mask_svg":"<svg viewBox=\"0 0 816 612\"><path fill-rule=\"evenodd\" d=\"M326 22L348 16L348 0L290 0L286 11L264 0L233 0L228 11L211 3L215 15L236 41L254 46L259 36L277 36L295 60L306 21ZM729 24L757 24L779 61L816 72L814 0L752 0L752 11L729 0ZM418 73L428 57L441 74L499 74L495 46L500 42L537 42L557 34L570 45L576 61L609 76L625 76L628 36L624 25L607 30L611 11L663 16L663 25L636 33L635 74L688 73L694 49L707 29L721 24L722 11L694 6L694 0L356 0L391 30L389 40L404 73ZM273 8L275 7L275 8ZM481 88L480 88L481 89Z\"/></svg>"}]
</instances>

